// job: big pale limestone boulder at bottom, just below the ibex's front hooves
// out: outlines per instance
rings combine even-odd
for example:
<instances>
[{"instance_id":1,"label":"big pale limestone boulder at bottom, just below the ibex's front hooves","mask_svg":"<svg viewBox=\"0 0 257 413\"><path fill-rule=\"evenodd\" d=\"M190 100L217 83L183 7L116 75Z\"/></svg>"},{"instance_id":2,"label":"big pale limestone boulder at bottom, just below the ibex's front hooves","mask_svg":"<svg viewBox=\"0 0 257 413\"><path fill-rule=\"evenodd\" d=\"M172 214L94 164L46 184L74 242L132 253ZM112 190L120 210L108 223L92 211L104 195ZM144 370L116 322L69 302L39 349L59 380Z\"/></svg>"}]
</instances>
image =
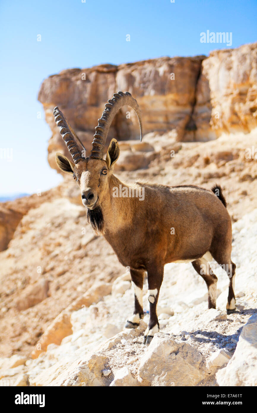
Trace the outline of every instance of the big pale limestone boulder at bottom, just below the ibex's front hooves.
<instances>
[{"instance_id":1,"label":"big pale limestone boulder at bottom, just below the ibex's front hooves","mask_svg":"<svg viewBox=\"0 0 257 413\"><path fill-rule=\"evenodd\" d=\"M139 376L151 386L195 386L205 377L201 362L196 348L158 333L141 358Z\"/></svg>"}]
</instances>

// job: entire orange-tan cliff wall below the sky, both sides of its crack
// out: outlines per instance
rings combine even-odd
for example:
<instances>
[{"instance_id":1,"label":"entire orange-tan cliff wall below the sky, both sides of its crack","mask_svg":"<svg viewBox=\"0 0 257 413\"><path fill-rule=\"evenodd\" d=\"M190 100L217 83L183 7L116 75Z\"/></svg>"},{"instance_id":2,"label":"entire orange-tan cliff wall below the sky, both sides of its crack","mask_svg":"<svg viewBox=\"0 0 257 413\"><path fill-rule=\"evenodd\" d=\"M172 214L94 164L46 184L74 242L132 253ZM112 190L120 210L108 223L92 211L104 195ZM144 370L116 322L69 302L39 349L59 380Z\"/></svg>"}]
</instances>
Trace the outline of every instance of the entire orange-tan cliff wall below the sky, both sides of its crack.
<instances>
[{"instance_id":1,"label":"entire orange-tan cliff wall below the sky, both sides of its crack","mask_svg":"<svg viewBox=\"0 0 257 413\"><path fill-rule=\"evenodd\" d=\"M254 43L217 50L207 58L160 57L119 66L68 69L50 76L43 81L38 95L52 130L50 166L57 169L55 152L68 155L54 123L54 106L63 110L89 154L97 119L118 90L128 91L137 99L144 134L170 132L168 142L206 141L222 132L251 131L257 126L256 61ZM138 137L137 117L130 108L123 107L112 123L109 138ZM133 159L137 156L134 154ZM148 165L142 156L136 163L137 168Z\"/></svg>"}]
</instances>

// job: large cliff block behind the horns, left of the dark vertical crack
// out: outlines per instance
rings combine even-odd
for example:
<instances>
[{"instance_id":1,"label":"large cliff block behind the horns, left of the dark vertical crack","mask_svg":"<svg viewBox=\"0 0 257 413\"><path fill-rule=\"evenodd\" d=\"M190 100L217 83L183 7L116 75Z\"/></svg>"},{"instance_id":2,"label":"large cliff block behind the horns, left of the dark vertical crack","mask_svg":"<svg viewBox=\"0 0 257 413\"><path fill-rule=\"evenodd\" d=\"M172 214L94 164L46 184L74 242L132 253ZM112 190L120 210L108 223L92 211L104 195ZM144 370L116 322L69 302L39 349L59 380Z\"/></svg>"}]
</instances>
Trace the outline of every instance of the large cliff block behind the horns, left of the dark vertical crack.
<instances>
[{"instance_id":1,"label":"large cliff block behind the horns, left of the dark vertical crack","mask_svg":"<svg viewBox=\"0 0 257 413\"><path fill-rule=\"evenodd\" d=\"M193 109L202 59L203 56L161 57L120 66L105 64L90 69L64 70L45 79L38 99L53 133L48 147L50 166L56 168L55 152L68 154L53 120L54 106L63 110L90 151L97 119L101 117L104 104L118 90L128 91L137 99L144 133L174 129L182 139ZM113 121L109 138L138 137L137 116L130 108L123 107Z\"/></svg>"}]
</instances>

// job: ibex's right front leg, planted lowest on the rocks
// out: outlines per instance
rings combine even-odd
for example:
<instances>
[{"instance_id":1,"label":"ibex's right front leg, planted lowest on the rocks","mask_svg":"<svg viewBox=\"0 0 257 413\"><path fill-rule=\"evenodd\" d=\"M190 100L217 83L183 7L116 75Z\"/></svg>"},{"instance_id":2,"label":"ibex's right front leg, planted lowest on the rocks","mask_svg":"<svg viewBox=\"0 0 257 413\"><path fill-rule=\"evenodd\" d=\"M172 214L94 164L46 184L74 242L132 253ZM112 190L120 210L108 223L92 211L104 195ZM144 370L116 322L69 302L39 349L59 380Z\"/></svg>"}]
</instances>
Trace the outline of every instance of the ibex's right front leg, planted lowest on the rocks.
<instances>
[{"instance_id":1,"label":"ibex's right front leg, planted lowest on the rocks","mask_svg":"<svg viewBox=\"0 0 257 413\"><path fill-rule=\"evenodd\" d=\"M160 330L158 317L156 313L157 301L160 292L160 286L163 282L163 266L156 267L151 266L147 268L148 277L148 291L147 297L150 305L150 320L148 327L144 333L143 344L150 344L153 339L153 335Z\"/></svg>"}]
</instances>

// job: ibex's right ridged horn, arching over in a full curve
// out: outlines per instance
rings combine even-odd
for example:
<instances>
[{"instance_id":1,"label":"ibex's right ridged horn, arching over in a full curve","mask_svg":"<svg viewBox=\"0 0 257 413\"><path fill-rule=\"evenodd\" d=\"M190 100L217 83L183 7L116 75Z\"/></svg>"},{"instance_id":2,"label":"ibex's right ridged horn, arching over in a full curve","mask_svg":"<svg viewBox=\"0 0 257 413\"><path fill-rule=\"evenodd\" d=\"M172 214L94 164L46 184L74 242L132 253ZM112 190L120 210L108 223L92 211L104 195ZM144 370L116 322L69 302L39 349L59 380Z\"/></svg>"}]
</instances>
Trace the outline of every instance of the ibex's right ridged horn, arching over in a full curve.
<instances>
[{"instance_id":1,"label":"ibex's right ridged horn, arching over in a full curve","mask_svg":"<svg viewBox=\"0 0 257 413\"><path fill-rule=\"evenodd\" d=\"M111 126L111 122L118 110L125 104L131 106L137 114L140 126L140 141L142 140L142 119L137 101L130 95L129 92L114 93L113 98L108 100L108 103L105 104L105 109L101 118L98 119L98 126L95 128L96 133L92 142L92 151L90 158L103 159L104 145L109 128Z\"/></svg>"}]
</instances>

